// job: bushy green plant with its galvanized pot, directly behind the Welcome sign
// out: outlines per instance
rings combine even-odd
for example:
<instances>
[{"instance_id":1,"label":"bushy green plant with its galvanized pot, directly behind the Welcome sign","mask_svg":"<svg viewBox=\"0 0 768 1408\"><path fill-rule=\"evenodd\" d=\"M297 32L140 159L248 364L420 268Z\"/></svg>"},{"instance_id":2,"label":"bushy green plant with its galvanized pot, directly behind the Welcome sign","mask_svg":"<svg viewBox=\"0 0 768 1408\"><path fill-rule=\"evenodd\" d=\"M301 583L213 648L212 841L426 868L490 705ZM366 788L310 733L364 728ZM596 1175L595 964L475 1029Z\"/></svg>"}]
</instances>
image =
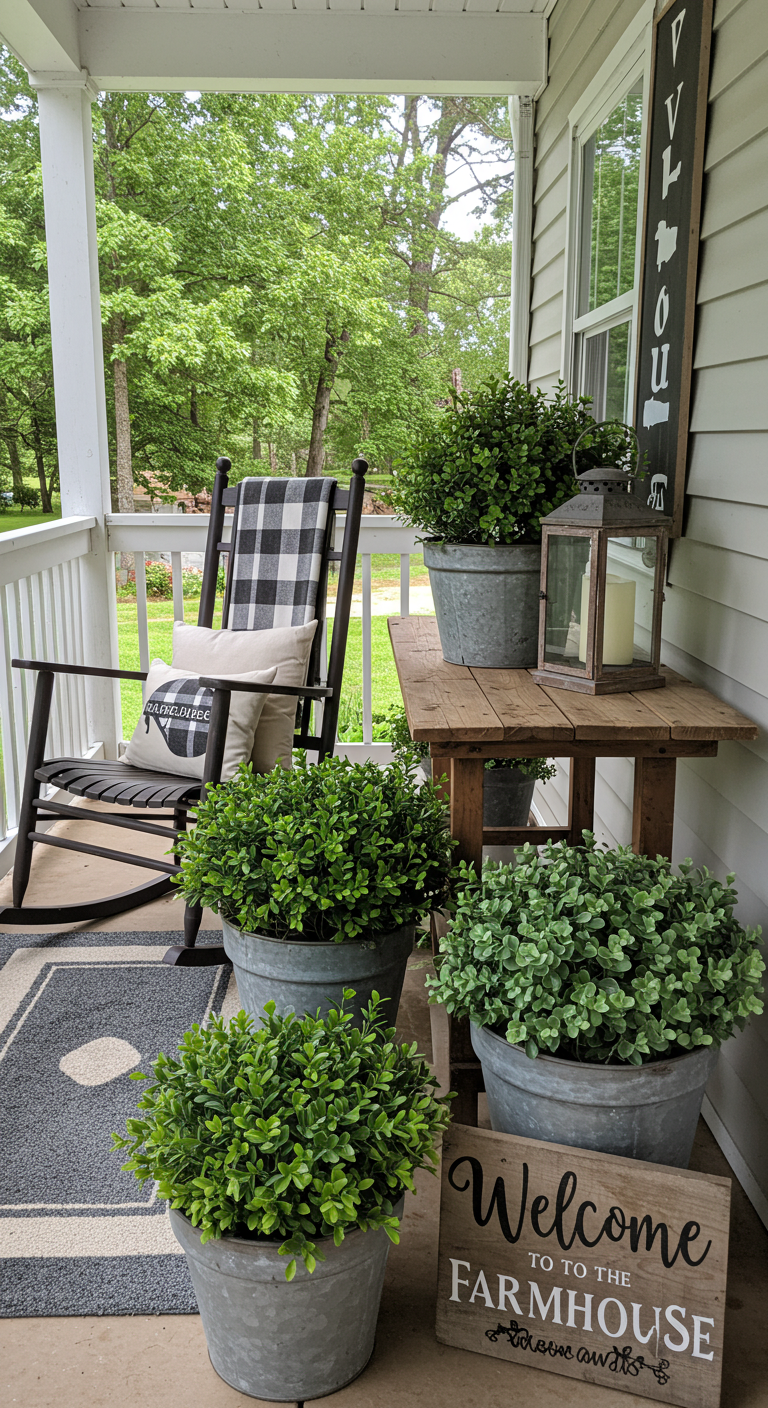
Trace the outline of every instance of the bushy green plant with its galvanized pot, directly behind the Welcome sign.
<instances>
[{"instance_id":1,"label":"bushy green plant with its galvanized pot, directly behind the Welcome sign","mask_svg":"<svg viewBox=\"0 0 768 1408\"><path fill-rule=\"evenodd\" d=\"M762 1011L733 879L589 832L464 869L430 987L469 1017L495 1129L688 1166L719 1046Z\"/></svg>"}]
</instances>

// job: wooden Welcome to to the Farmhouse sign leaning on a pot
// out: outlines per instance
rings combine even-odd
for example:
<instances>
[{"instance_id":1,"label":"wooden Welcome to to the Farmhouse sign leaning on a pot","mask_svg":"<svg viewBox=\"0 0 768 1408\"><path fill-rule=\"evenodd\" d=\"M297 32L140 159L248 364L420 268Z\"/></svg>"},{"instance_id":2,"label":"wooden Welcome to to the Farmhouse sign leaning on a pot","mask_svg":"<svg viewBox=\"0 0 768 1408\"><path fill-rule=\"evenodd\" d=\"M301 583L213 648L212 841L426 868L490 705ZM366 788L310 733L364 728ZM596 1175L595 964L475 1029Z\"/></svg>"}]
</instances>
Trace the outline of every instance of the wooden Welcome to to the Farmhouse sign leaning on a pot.
<instances>
[{"instance_id":1,"label":"wooden Welcome to to the Farmhouse sign leaning on a pot","mask_svg":"<svg viewBox=\"0 0 768 1408\"><path fill-rule=\"evenodd\" d=\"M452 1125L437 1338L717 1408L729 1211L729 1178Z\"/></svg>"}]
</instances>

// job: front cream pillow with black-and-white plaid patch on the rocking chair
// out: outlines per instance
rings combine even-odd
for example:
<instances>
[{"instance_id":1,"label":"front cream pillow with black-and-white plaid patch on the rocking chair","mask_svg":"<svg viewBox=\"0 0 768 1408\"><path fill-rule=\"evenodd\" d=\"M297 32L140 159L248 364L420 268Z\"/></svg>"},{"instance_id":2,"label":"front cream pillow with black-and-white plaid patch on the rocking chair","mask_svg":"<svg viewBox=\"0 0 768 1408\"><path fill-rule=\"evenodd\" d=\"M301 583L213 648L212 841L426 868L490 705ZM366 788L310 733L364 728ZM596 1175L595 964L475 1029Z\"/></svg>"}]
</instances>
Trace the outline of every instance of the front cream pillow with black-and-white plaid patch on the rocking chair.
<instances>
[{"instance_id":1,"label":"front cream pillow with black-and-white plaid patch on the rocking chair","mask_svg":"<svg viewBox=\"0 0 768 1408\"><path fill-rule=\"evenodd\" d=\"M180 670L165 660L152 660L147 676L145 704L134 735L123 756L124 763L151 772L180 777L203 777L209 739L213 690L203 689L197 676L224 674L204 667ZM272 684L275 670L234 674L228 679L248 684ZM233 777L240 763L251 758L254 734L266 694L233 691L224 746L221 780Z\"/></svg>"}]
</instances>

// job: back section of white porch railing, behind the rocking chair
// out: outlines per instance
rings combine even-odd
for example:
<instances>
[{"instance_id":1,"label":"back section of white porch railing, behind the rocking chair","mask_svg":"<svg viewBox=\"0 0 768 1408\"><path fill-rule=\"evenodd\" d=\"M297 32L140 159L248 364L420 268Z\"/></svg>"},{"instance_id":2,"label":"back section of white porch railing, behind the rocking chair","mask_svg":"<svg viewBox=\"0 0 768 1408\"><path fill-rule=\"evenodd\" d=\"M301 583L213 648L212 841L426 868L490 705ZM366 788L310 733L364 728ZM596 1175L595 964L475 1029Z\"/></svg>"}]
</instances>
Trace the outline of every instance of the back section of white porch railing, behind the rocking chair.
<instances>
[{"instance_id":1,"label":"back section of white porch railing, behind the rocking chair","mask_svg":"<svg viewBox=\"0 0 768 1408\"><path fill-rule=\"evenodd\" d=\"M182 553L203 552L209 529L207 514L107 514L107 542L110 552L132 552L135 560L138 653L140 669L149 669L149 627L147 615L145 560L158 553L171 553L173 572L173 620L185 620L185 598L182 591ZM228 542L231 515L224 520L224 542ZM344 536L344 515L337 521L337 548ZM413 528L404 528L396 518L386 515L364 515L361 522L358 552L362 556L362 745L369 756L376 750L389 752L386 745L373 743L372 724L372 600L371 600L371 558L376 553L396 553L400 558L400 615L409 615L410 605L410 556L421 553ZM345 745L352 752L355 745Z\"/></svg>"}]
</instances>

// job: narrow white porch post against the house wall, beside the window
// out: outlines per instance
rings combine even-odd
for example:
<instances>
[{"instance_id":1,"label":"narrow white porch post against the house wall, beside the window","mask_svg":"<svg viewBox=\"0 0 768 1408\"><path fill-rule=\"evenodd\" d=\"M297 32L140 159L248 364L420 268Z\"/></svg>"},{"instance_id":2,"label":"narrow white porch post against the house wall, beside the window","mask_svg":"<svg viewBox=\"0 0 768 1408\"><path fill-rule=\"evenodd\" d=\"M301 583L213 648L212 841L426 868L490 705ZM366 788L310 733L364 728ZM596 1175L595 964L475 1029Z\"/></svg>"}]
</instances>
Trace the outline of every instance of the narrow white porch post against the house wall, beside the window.
<instances>
[{"instance_id":1,"label":"narrow white porch post against the house wall, beside the window","mask_svg":"<svg viewBox=\"0 0 768 1408\"><path fill-rule=\"evenodd\" d=\"M533 97L510 97L509 120L514 146L509 369L519 382L527 382L533 241Z\"/></svg>"}]
</instances>

